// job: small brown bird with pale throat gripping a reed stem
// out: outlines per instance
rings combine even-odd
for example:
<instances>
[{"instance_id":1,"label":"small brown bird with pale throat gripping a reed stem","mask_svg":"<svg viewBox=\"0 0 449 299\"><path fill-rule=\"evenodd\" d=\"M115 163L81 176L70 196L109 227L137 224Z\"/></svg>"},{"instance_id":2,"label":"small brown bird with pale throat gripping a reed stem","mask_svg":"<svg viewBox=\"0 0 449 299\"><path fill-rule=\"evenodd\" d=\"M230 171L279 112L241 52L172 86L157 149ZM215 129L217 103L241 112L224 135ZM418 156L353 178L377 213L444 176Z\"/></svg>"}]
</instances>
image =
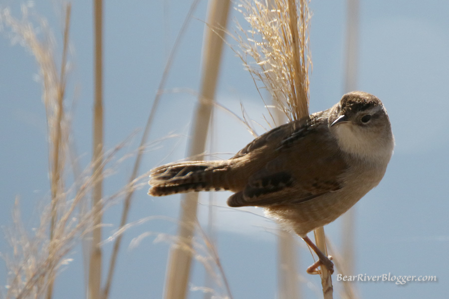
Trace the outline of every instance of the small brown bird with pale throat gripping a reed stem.
<instances>
[{"instance_id":1,"label":"small brown bird with pale throat gripping a reed stem","mask_svg":"<svg viewBox=\"0 0 449 299\"><path fill-rule=\"evenodd\" d=\"M383 178L395 146L390 119L374 95L354 91L328 110L276 127L227 160L182 161L150 171L152 196L191 191L234 192L230 207L263 207L301 237L324 266L307 233L345 213Z\"/></svg>"}]
</instances>

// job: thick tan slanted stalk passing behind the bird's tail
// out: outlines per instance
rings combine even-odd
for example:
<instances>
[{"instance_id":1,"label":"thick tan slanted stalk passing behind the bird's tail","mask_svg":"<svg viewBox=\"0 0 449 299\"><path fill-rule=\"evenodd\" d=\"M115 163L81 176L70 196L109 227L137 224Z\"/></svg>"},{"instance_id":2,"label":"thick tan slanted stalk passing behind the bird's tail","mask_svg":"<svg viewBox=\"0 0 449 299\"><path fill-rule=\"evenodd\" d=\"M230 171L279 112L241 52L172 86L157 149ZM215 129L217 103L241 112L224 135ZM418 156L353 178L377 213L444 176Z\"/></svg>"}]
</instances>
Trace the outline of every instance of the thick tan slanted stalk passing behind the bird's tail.
<instances>
[{"instance_id":1,"label":"thick tan slanted stalk passing behind the bird's tail","mask_svg":"<svg viewBox=\"0 0 449 299\"><path fill-rule=\"evenodd\" d=\"M229 7L229 0L210 1L208 26L205 27L206 38L203 46L203 78L199 103L194 117L193 140L189 147L190 156L200 155L205 149L224 42L224 33L216 33L213 28L226 27ZM178 228L179 243L170 252L165 284L166 299L186 298L192 253L184 250L180 243L192 247L197 219L198 193L187 193L181 206L181 223Z\"/></svg>"}]
</instances>

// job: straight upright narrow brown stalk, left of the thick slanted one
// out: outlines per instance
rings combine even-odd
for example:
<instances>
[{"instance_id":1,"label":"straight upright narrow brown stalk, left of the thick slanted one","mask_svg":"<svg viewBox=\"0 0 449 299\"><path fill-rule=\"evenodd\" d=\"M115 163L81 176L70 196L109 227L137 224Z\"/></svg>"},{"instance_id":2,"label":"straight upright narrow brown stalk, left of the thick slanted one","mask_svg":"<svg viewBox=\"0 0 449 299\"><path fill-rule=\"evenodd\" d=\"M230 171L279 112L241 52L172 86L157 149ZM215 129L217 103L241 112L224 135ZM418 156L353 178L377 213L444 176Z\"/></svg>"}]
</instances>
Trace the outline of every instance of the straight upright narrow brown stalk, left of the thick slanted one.
<instances>
[{"instance_id":1,"label":"straight upright narrow brown stalk, left of the thick slanted one","mask_svg":"<svg viewBox=\"0 0 449 299\"><path fill-rule=\"evenodd\" d=\"M95 27L95 98L93 115L92 191L93 230L89 261L89 299L100 298L101 287L101 221L100 201L103 192L103 0L94 0Z\"/></svg>"}]
</instances>

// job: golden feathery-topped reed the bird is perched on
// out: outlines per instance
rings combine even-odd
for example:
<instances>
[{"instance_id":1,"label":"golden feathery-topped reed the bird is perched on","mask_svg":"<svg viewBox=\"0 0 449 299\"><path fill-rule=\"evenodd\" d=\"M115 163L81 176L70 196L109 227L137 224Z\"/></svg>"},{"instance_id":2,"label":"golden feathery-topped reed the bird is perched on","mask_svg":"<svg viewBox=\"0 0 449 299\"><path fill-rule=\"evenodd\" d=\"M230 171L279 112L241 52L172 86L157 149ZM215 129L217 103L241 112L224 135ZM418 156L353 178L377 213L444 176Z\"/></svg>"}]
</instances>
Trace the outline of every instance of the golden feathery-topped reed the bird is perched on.
<instances>
[{"instance_id":1,"label":"golden feathery-topped reed the bird is perched on","mask_svg":"<svg viewBox=\"0 0 449 299\"><path fill-rule=\"evenodd\" d=\"M244 65L255 80L262 82L261 88L270 92L290 121L307 116L311 66L308 2L242 0L239 7L251 27L246 31L237 23L240 34L234 36L243 50L240 57ZM323 228L316 231L315 239L325 253ZM332 298L331 276L325 267L320 268L323 295Z\"/></svg>"}]
</instances>

